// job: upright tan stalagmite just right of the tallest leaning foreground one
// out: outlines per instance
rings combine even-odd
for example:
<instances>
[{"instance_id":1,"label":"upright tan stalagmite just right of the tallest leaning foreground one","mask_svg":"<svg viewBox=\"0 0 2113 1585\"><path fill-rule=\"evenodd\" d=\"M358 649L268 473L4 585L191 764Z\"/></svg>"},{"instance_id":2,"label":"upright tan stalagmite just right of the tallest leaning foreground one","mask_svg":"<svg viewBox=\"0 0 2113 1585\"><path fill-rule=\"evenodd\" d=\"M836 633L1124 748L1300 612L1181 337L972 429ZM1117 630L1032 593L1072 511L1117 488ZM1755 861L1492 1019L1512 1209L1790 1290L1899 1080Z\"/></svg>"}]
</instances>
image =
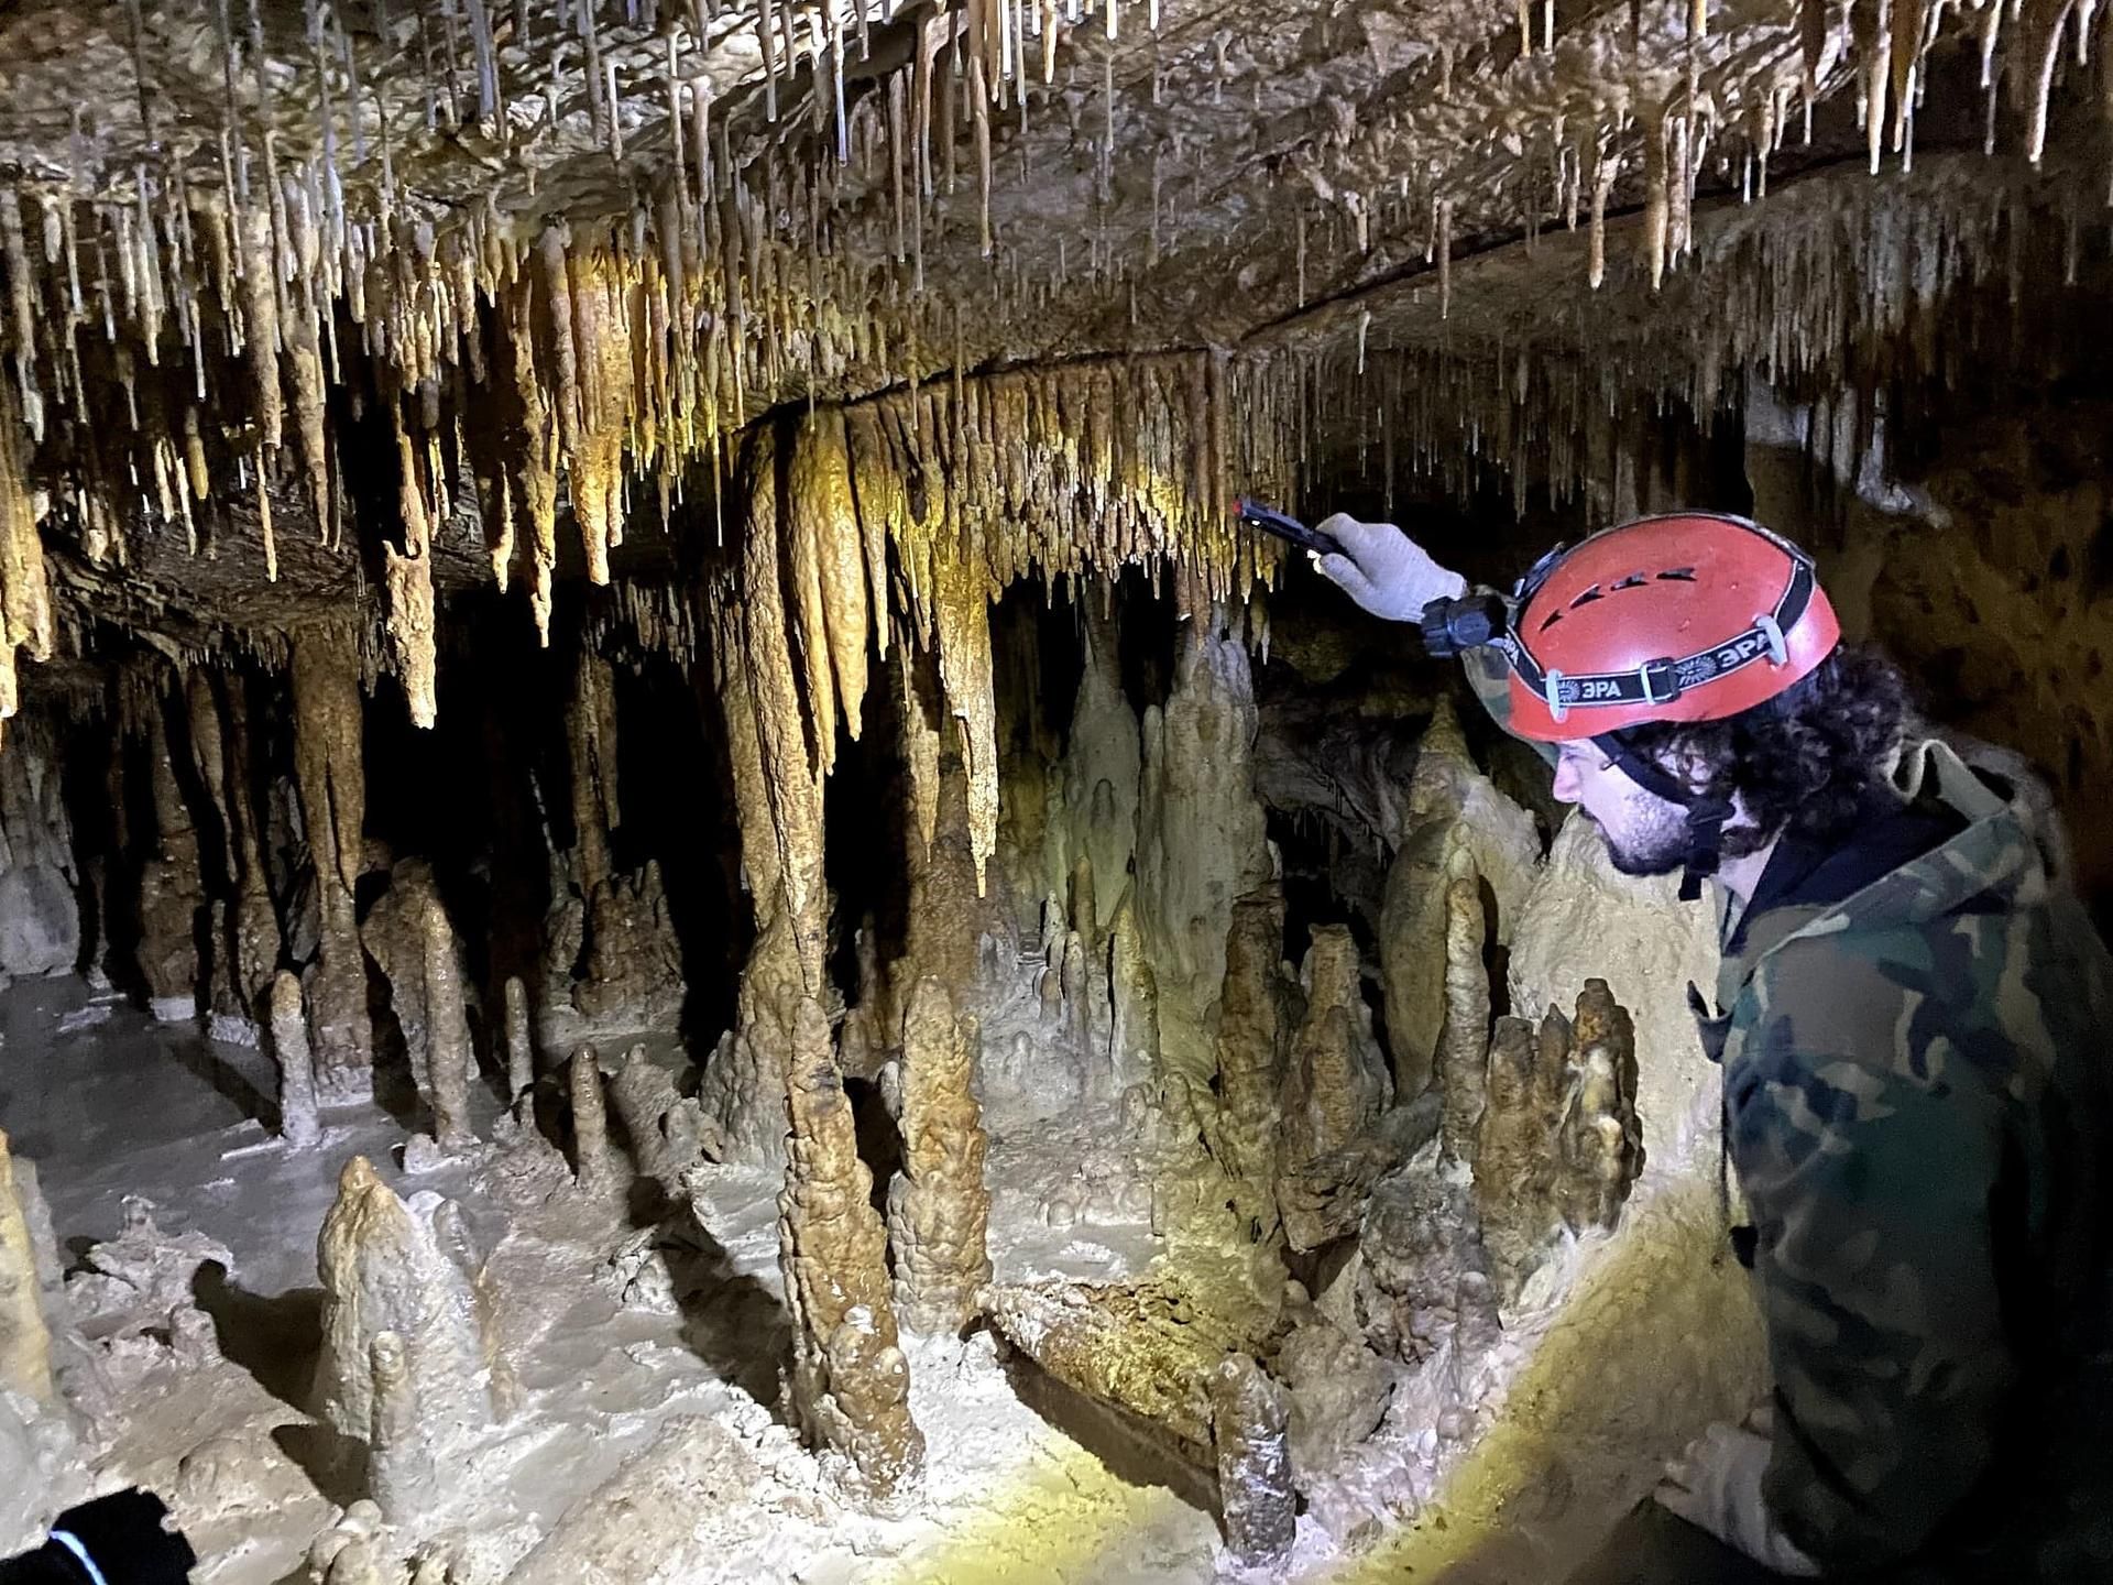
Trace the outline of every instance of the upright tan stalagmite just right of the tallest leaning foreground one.
<instances>
[{"instance_id":1,"label":"upright tan stalagmite just right of the tallest leaning foreground one","mask_svg":"<svg viewBox=\"0 0 2113 1585\"><path fill-rule=\"evenodd\" d=\"M974 1019L955 1017L936 978L917 981L902 1012L902 1171L887 1186L896 1317L917 1331L959 1331L991 1281L974 1048Z\"/></svg>"}]
</instances>

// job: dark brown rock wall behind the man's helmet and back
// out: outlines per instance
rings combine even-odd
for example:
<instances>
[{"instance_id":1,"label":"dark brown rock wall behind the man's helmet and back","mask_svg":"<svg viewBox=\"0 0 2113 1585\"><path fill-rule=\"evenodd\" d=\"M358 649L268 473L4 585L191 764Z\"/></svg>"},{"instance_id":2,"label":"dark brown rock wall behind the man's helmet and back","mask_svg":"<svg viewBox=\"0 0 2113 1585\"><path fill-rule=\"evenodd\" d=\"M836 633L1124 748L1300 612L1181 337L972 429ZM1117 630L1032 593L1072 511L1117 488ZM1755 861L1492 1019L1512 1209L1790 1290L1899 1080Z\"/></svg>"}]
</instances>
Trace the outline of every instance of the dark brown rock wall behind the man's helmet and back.
<instances>
[{"instance_id":1,"label":"dark brown rock wall behind the man's helmet and back","mask_svg":"<svg viewBox=\"0 0 2113 1585\"><path fill-rule=\"evenodd\" d=\"M1851 640L1897 659L1942 727L2018 750L2113 900L2113 402L2045 387L1946 389L1904 456L1883 412L1747 387L1754 514L1819 558ZM1817 454L1817 456L1815 456Z\"/></svg>"}]
</instances>

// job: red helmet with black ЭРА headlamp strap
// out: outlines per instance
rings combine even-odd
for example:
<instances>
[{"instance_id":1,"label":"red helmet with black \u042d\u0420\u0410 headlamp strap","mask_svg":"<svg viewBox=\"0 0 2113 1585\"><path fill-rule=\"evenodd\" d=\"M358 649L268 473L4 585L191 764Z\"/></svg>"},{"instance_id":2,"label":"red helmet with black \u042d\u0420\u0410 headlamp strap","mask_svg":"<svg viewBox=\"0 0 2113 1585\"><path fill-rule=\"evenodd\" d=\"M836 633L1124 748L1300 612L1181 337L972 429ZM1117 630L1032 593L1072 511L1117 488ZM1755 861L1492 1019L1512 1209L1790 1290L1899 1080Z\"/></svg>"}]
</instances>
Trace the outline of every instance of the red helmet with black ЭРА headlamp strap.
<instances>
[{"instance_id":1,"label":"red helmet with black \u042d\u0420\u0410 headlamp strap","mask_svg":"<svg viewBox=\"0 0 2113 1585\"><path fill-rule=\"evenodd\" d=\"M1802 549L1745 518L1678 511L1606 528L1528 573L1502 649L1511 729L1538 742L1722 721L1840 642Z\"/></svg>"}]
</instances>

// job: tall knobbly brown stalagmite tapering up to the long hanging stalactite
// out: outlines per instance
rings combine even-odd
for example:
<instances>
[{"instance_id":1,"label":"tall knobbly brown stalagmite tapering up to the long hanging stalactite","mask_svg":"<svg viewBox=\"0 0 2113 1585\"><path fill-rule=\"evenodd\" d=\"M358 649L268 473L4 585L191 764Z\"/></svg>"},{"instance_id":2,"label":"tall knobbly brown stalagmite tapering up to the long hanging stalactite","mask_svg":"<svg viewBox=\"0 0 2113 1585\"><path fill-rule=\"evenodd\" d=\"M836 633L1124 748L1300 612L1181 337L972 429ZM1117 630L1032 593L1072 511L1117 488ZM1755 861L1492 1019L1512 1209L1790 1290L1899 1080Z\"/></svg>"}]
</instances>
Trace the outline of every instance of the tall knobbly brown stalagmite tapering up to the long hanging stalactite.
<instances>
[{"instance_id":1,"label":"tall knobbly brown stalagmite tapering up to the long hanging stalactite","mask_svg":"<svg viewBox=\"0 0 2113 1585\"><path fill-rule=\"evenodd\" d=\"M778 1262L792 1312L788 1395L807 1433L847 1460L847 1481L887 1505L923 1465L887 1293L887 1232L873 1211L873 1173L858 1158L828 1021L811 997L794 1006L786 1036L792 1129Z\"/></svg>"}]
</instances>

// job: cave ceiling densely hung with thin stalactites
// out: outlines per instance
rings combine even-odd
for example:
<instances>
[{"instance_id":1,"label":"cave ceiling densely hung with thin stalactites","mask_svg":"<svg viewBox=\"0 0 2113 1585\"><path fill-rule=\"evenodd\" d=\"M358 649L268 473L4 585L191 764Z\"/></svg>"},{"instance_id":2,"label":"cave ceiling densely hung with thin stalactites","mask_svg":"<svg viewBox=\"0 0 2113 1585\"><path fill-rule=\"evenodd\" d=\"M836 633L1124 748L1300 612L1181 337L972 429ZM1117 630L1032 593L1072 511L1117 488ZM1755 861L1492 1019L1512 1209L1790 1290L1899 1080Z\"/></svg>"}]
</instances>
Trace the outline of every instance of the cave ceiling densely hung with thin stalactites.
<instances>
[{"instance_id":1,"label":"cave ceiling densely hung with thin stalactites","mask_svg":"<svg viewBox=\"0 0 2113 1585\"><path fill-rule=\"evenodd\" d=\"M72 647L268 649L401 562L427 602L513 562L539 623L659 577L816 402L961 467L1111 393L1209 473L1168 535L1295 488L1367 366L1388 444L1583 478L1623 393L1927 355L2018 235L2073 254L2109 40L2094 0L27 0L0 514ZM980 429L964 380L1014 380Z\"/></svg>"}]
</instances>

